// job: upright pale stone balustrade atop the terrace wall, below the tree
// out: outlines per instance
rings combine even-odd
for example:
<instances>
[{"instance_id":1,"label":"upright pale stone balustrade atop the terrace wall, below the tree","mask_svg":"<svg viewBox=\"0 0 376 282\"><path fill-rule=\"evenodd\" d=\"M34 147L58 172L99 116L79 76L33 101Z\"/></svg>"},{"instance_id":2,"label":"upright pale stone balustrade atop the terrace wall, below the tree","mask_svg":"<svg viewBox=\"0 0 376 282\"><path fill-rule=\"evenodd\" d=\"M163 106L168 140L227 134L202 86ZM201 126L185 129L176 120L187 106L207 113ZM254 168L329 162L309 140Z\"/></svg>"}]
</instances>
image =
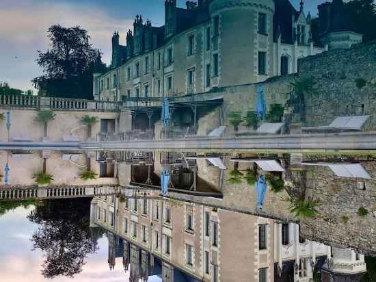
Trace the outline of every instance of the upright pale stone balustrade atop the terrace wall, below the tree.
<instances>
[{"instance_id":1,"label":"upright pale stone balustrade atop the terrace wall, below the tree","mask_svg":"<svg viewBox=\"0 0 376 282\"><path fill-rule=\"evenodd\" d=\"M120 105L109 101L39 97L27 95L0 95L0 108L35 109L54 111L99 111L117 112Z\"/></svg>"}]
</instances>

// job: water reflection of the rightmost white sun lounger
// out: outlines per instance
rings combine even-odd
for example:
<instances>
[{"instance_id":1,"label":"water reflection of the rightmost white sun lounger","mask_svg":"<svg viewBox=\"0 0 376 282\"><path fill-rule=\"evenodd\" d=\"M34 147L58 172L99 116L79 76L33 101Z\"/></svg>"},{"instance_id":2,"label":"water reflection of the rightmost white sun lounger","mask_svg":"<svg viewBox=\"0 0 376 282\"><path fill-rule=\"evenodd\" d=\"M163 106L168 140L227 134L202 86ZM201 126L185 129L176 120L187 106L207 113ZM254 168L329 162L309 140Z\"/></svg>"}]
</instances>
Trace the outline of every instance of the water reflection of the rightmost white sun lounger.
<instances>
[{"instance_id":1,"label":"water reflection of the rightmost white sun lounger","mask_svg":"<svg viewBox=\"0 0 376 282\"><path fill-rule=\"evenodd\" d=\"M331 163L312 163L304 162L304 166L327 166L338 177L352 177L371 179L372 177L366 172L362 164L331 164Z\"/></svg>"}]
</instances>

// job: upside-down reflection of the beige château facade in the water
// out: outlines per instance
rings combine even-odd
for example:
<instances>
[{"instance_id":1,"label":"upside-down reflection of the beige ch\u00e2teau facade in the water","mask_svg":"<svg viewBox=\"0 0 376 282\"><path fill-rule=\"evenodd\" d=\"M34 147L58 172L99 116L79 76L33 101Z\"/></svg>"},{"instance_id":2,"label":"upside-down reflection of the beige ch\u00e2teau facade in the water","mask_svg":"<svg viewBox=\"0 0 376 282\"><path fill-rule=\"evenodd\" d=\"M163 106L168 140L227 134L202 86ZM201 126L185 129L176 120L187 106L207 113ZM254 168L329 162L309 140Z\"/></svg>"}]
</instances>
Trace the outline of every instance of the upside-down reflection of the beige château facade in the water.
<instances>
[{"instance_id":1,"label":"upside-down reflection of the beige ch\u00e2teau facade in the water","mask_svg":"<svg viewBox=\"0 0 376 282\"><path fill-rule=\"evenodd\" d=\"M112 248L121 250L131 281L155 274L163 281L310 281L332 256L329 246L301 238L294 223L170 199L93 203L94 222L111 234L109 267Z\"/></svg>"}]
</instances>

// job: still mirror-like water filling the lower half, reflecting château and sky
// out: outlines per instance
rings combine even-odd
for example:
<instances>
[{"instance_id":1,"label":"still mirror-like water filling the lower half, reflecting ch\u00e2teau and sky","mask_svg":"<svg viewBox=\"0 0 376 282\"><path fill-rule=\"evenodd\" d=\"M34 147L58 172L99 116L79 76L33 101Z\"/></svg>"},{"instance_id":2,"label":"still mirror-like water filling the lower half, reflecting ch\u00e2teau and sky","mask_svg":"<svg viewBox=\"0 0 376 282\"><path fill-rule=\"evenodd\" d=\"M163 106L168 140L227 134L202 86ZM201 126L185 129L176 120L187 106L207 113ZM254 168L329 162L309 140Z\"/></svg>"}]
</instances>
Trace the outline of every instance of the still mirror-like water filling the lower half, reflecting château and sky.
<instances>
[{"instance_id":1,"label":"still mirror-like water filling the lower half, reflecting ch\u00e2teau and sky","mask_svg":"<svg viewBox=\"0 0 376 282\"><path fill-rule=\"evenodd\" d=\"M373 156L66 155L1 154L1 281L375 281Z\"/></svg>"}]
</instances>

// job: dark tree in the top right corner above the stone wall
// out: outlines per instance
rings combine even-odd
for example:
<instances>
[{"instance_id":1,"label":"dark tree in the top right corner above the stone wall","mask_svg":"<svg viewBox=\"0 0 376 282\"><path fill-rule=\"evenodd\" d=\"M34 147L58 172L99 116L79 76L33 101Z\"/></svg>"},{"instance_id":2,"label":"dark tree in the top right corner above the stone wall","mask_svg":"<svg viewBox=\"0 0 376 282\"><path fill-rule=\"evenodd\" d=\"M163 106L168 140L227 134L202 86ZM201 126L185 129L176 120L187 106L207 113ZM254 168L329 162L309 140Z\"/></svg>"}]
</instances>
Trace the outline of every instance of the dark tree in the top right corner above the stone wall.
<instances>
[{"instance_id":1,"label":"dark tree in the top right corner above the stone wall","mask_svg":"<svg viewBox=\"0 0 376 282\"><path fill-rule=\"evenodd\" d=\"M364 42L376 40L376 3L374 0L351 0L345 3L358 33L364 35Z\"/></svg>"}]
</instances>

